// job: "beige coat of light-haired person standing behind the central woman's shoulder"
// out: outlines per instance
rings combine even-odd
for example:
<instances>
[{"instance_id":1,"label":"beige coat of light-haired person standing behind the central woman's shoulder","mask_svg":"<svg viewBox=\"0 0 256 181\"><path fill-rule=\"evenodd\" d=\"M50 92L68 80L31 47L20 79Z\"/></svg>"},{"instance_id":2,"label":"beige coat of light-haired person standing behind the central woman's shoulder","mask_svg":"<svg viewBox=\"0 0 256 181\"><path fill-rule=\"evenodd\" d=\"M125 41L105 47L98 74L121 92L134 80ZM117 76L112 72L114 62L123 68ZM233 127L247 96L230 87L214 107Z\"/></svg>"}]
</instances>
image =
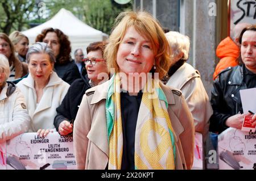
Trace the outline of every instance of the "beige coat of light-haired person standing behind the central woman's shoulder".
<instances>
[{"instance_id":1,"label":"beige coat of light-haired person standing behind the central woman's shoulder","mask_svg":"<svg viewBox=\"0 0 256 181\"><path fill-rule=\"evenodd\" d=\"M209 130L209 119L213 111L199 71L184 63L170 77L166 85L181 90L193 115L195 131L202 133L205 141Z\"/></svg>"}]
</instances>

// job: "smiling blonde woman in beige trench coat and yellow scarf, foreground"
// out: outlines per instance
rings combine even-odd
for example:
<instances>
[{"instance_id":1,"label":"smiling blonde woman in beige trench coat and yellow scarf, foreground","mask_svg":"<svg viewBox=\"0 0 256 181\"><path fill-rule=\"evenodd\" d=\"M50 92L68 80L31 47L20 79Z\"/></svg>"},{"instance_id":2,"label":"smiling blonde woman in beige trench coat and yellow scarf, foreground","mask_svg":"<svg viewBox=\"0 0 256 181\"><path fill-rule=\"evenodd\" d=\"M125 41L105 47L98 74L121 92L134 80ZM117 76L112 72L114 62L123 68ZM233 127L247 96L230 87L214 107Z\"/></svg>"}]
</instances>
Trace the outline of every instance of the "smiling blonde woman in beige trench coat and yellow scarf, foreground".
<instances>
[{"instance_id":1,"label":"smiling blonde woman in beige trench coat and yellow scarf, foreground","mask_svg":"<svg viewBox=\"0 0 256 181\"><path fill-rule=\"evenodd\" d=\"M170 54L158 21L122 12L104 57L114 75L82 98L73 130L77 168L191 169L193 118L181 92L159 81Z\"/></svg>"}]
</instances>

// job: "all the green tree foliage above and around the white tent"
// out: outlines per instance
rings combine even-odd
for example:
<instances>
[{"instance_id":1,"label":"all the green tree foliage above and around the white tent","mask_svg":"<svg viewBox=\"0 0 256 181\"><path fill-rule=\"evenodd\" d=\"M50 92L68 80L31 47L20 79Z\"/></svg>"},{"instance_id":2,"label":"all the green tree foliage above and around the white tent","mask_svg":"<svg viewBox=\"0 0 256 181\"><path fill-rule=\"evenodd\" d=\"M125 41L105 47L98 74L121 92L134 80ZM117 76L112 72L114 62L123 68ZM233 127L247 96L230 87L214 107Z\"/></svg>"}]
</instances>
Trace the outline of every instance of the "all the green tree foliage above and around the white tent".
<instances>
[{"instance_id":1,"label":"all the green tree foliage above and around the white tent","mask_svg":"<svg viewBox=\"0 0 256 181\"><path fill-rule=\"evenodd\" d=\"M46 7L47 18L39 16L40 2ZM30 28L30 23L44 23L61 8L109 34L116 16L123 10L132 9L132 3L118 5L114 0L0 0L0 32L9 34Z\"/></svg>"}]
</instances>

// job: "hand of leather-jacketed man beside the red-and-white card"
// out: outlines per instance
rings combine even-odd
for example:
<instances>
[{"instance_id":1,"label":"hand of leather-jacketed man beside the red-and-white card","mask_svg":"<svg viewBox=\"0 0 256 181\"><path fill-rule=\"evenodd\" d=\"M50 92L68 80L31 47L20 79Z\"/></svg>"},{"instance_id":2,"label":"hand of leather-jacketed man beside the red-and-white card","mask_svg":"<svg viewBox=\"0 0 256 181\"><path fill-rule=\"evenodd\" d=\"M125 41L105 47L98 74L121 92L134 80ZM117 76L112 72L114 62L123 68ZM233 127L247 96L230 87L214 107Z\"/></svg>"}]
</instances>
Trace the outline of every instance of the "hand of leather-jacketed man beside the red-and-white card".
<instances>
[{"instance_id":1,"label":"hand of leather-jacketed man beside the red-and-white card","mask_svg":"<svg viewBox=\"0 0 256 181\"><path fill-rule=\"evenodd\" d=\"M228 127L241 129L242 128L242 124L243 124L243 120L245 119L245 116L249 116L249 115L251 115L251 113L243 113L243 114L238 113L237 115L230 116L226 120L226 125ZM255 118L256 117L254 115L254 122L253 122L253 124L256 124Z\"/></svg>"}]
</instances>

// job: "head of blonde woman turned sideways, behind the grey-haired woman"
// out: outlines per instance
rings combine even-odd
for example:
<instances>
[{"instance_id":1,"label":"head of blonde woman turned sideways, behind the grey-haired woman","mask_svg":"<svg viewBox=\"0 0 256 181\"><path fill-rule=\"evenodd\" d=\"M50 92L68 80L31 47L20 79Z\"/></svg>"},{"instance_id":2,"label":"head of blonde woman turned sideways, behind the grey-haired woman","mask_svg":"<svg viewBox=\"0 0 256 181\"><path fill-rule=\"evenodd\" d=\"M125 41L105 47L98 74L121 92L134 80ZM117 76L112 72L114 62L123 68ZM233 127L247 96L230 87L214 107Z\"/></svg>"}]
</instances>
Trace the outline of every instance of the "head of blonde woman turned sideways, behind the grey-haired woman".
<instances>
[{"instance_id":1,"label":"head of blonde woman turned sideways, behind the grey-haired woman","mask_svg":"<svg viewBox=\"0 0 256 181\"><path fill-rule=\"evenodd\" d=\"M14 45L17 57L21 62L26 62L26 54L28 50L28 37L19 31L14 31L9 35L11 42Z\"/></svg>"}]
</instances>

